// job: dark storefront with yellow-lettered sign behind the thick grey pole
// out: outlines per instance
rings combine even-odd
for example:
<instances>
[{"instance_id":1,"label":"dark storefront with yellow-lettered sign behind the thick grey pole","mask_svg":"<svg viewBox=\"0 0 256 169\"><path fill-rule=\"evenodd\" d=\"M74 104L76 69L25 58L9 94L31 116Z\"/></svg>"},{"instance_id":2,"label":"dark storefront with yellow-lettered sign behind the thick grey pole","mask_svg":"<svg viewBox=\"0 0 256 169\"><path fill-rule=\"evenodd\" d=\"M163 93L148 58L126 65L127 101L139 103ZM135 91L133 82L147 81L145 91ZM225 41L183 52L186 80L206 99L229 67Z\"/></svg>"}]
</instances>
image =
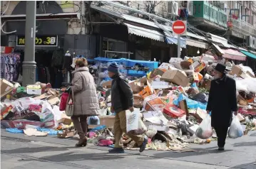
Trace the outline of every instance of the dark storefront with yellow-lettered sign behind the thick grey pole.
<instances>
[{"instance_id":1,"label":"dark storefront with yellow-lettered sign behind the thick grey pole","mask_svg":"<svg viewBox=\"0 0 256 169\"><path fill-rule=\"evenodd\" d=\"M42 5L42 4L40 4ZM43 10L43 11L42 11ZM52 87L61 87L62 82L71 81L73 58L95 57L96 38L85 35L67 35L68 21L77 21L80 13L65 13L56 1L36 10L35 61L36 82L51 83ZM16 31L6 35L6 46L14 48L14 53L20 56L19 68L14 74L19 74L22 82L22 62L24 61L26 1L20 1L11 15L1 17L6 22L6 32ZM73 29L73 28L72 28ZM87 40L87 41L86 41ZM91 42L94 43L93 50ZM86 45L85 45L86 44ZM69 51L69 55L66 55ZM90 52L91 51L91 52ZM9 57L9 56L8 56Z\"/></svg>"}]
</instances>

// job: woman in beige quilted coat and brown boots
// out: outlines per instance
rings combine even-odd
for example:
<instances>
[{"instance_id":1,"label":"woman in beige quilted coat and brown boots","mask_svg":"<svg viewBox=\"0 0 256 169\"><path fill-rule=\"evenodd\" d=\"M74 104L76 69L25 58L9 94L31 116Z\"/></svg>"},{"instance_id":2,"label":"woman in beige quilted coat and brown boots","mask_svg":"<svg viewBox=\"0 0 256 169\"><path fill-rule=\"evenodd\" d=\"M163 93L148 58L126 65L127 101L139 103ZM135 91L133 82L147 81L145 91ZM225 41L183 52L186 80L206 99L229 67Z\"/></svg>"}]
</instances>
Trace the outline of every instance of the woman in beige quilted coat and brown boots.
<instances>
[{"instance_id":1,"label":"woman in beige quilted coat and brown boots","mask_svg":"<svg viewBox=\"0 0 256 169\"><path fill-rule=\"evenodd\" d=\"M74 111L71 119L80 137L76 146L86 146L87 144L87 117L97 116L99 112L98 97L93 76L86 67L87 60L78 58L76 60L76 70L72 72L73 80L71 89L74 93Z\"/></svg>"}]
</instances>

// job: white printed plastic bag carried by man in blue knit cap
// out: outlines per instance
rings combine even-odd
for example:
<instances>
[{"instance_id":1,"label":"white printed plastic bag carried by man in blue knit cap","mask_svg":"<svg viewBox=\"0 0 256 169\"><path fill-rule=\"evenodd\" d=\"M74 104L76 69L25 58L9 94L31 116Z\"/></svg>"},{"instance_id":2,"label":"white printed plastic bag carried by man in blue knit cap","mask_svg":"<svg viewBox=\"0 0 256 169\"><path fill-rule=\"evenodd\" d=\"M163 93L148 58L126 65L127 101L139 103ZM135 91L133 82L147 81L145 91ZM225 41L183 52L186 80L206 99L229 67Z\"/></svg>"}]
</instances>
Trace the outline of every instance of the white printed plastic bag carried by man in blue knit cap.
<instances>
[{"instance_id":1,"label":"white printed plastic bag carried by man in blue knit cap","mask_svg":"<svg viewBox=\"0 0 256 169\"><path fill-rule=\"evenodd\" d=\"M133 112L126 110L126 131L135 135L140 135L147 131L145 124L140 119L140 110Z\"/></svg>"}]
</instances>

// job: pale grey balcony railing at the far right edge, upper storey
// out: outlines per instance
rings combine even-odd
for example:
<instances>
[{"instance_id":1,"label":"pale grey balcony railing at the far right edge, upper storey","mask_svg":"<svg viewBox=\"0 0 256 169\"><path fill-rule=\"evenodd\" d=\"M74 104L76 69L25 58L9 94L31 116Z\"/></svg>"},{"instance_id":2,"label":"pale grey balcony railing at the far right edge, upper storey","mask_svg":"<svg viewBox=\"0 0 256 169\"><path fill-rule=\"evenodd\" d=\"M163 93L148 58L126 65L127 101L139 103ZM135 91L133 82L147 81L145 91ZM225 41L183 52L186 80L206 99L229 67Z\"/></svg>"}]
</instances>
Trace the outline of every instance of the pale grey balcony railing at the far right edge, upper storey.
<instances>
[{"instance_id":1,"label":"pale grey balcony railing at the far right edge, upper storey","mask_svg":"<svg viewBox=\"0 0 256 169\"><path fill-rule=\"evenodd\" d=\"M243 33L247 36L256 35L256 28L250 25L250 23L242 21L240 18L238 19L231 18L231 21L232 21L232 29L234 29L235 31Z\"/></svg>"}]
</instances>

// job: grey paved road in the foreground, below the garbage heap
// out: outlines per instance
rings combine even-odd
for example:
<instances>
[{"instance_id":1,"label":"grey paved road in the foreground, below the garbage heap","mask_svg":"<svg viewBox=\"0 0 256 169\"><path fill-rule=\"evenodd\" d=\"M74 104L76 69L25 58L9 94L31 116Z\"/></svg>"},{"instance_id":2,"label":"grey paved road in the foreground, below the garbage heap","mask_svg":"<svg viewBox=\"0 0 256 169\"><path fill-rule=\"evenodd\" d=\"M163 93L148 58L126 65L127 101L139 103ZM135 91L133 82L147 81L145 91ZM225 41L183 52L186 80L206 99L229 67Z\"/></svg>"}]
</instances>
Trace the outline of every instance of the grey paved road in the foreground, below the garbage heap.
<instances>
[{"instance_id":1,"label":"grey paved road in the foreground, below the garbage heap","mask_svg":"<svg viewBox=\"0 0 256 169\"><path fill-rule=\"evenodd\" d=\"M216 142L193 144L195 152L126 151L108 154L108 148L74 148L76 140L56 136L29 137L1 130L1 168L241 168L256 169L256 131L228 139L226 151L216 151Z\"/></svg>"}]
</instances>

